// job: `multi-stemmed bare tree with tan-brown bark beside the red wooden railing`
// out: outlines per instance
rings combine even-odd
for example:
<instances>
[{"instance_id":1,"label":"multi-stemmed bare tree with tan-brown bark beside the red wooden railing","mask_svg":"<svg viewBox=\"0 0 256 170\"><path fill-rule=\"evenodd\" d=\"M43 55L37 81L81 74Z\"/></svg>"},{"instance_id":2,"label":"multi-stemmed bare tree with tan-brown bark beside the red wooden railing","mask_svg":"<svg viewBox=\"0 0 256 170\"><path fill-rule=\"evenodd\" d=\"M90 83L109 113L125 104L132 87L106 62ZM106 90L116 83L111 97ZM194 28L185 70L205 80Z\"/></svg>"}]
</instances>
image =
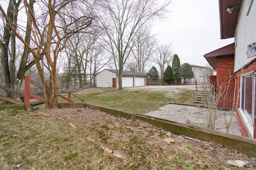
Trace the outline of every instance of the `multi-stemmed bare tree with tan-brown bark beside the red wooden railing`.
<instances>
[{"instance_id":1,"label":"multi-stemmed bare tree with tan-brown bark beside the red wooden railing","mask_svg":"<svg viewBox=\"0 0 256 170\"><path fill-rule=\"evenodd\" d=\"M24 0L24 8L32 32L31 39L35 46L28 44L21 33L16 31L12 24L12 18L4 12L2 6L0 6L0 11L6 20L6 25L24 43L34 57L40 79L44 84L46 107L57 108L59 82L56 61L58 54L64 49L66 42L72 35L77 32L86 32L85 29L90 26L94 18L91 14L86 13L88 7L83 1L48 0L48 2L36 3L40 8L35 13L27 0ZM43 60L44 57L46 64ZM40 61L42 62L40 63ZM47 66L50 73L49 81L46 81L47 78L44 74L44 68Z\"/></svg>"}]
</instances>

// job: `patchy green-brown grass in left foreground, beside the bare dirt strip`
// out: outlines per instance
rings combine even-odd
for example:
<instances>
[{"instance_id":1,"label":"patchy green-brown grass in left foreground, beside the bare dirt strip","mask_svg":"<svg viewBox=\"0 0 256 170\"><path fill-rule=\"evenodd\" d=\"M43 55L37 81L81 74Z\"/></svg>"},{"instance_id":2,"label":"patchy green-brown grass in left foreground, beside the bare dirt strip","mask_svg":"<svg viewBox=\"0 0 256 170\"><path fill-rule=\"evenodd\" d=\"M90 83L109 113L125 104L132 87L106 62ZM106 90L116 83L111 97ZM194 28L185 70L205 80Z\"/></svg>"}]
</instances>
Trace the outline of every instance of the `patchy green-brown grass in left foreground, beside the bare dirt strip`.
<instances>
[{"instance_id":1,"label":"patchy green-brown grass in left foreground, beside the bare dirt strip","mask_svg":"<svg viewBox=\"0 0 256 170\"><path fill-rule=\"evenodd\" d=\"M115 158L56 117L6 110L0 111L0 122L2 170L19 164L22 169L117 169Z\"/></svg>"}]
</instances>

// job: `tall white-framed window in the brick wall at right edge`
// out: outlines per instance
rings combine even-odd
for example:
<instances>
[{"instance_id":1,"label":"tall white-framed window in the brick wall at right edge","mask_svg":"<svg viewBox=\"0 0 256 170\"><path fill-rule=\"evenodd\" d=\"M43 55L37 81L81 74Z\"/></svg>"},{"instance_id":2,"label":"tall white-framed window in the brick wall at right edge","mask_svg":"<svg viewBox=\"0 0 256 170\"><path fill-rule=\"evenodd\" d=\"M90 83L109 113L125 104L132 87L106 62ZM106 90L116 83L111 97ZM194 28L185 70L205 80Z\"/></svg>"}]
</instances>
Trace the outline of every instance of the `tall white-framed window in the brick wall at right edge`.
<instances>
[{"instance_id":1,"label":"tall white-framed window in the brick wall at right edge","mask_svg":"<svg viewBox=\"0 0 256 170\"><path fill-rule=\"evenodd\" d=\"M253 134L253 123L255 115L255 76L244 76L242 79L241 88L241 109L243 110L244 121L250 131Z\"/></svg>"}]
</instances>

